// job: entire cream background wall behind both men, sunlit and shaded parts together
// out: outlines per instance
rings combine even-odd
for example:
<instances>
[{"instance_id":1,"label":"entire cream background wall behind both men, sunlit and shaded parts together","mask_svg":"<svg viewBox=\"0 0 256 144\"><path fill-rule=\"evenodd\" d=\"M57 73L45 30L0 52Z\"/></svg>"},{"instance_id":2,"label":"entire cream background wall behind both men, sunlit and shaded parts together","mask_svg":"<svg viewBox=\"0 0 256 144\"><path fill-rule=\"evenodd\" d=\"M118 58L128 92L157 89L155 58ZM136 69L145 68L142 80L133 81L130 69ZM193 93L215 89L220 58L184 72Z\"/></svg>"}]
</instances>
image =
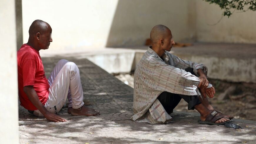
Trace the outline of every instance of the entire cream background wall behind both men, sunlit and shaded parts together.
<instances>
[{"instance_id":1,"label":"entire cream background wall behind both men, sunlit and shaded parts together","mask_svg":"<svg viewBox=\"0 0 256 144\"><path fill-rule=\"evenodd\" d=\"M35 19L48 22L47 53L142 46L152 27L164 24L176 42L256 43L256 12L234 13L202 0L22 0L23 42ZM44 51L40 51L44 53Z\"/></svg>"}]
</instances>

